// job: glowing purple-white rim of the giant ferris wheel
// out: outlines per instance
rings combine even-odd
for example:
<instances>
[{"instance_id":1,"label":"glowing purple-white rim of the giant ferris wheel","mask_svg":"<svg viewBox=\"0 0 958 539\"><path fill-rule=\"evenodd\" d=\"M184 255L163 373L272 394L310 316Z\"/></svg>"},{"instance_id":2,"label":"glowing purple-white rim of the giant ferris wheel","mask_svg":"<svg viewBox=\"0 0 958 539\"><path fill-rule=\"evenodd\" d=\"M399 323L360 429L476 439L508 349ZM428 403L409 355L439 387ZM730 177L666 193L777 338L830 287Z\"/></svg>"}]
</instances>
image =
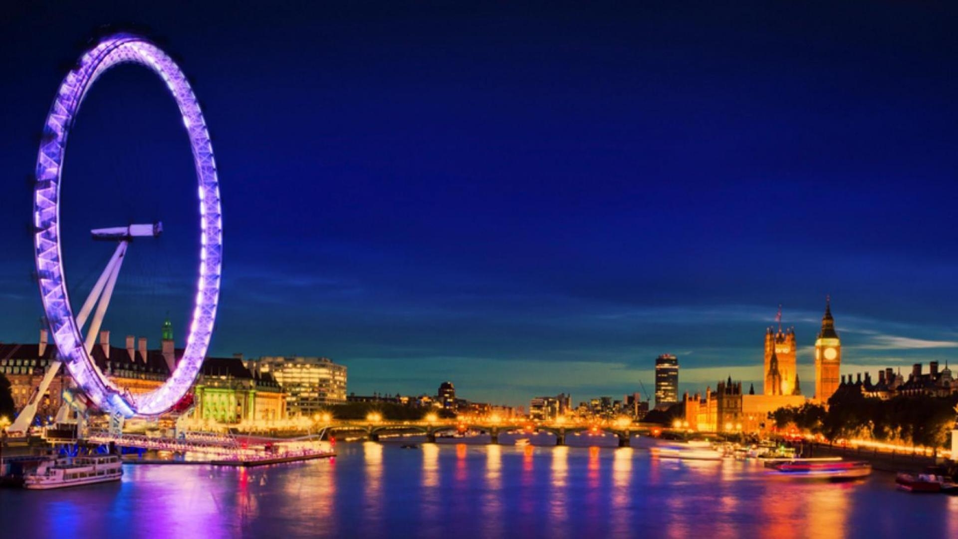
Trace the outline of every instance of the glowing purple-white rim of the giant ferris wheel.
<instances>
[{"instance_id":1,"label":"glowing purple-white rim of the giant ferris wheel","mask_svg":"<svg viewBox=\"0 0 958 539\"><path fill-rule=\"evenodd\" d=\"M60 176L67 136L86 92L103 73L122 63L147 67L170 89L190 136L200 213L199 279L183 357L162 387L136 397L106 379L90 357L80 334L85 316L78 324L67 293L59 234ZM222 219L213 146L193 89L179 66L148 39L128 34L104 37L83 53L60 84L47 114L36 160L34 253L40 297L59 358L80 389L101 410L125 417L170 410L193 384L213 333L222 268Z\"/></svg>"}]
</instances>

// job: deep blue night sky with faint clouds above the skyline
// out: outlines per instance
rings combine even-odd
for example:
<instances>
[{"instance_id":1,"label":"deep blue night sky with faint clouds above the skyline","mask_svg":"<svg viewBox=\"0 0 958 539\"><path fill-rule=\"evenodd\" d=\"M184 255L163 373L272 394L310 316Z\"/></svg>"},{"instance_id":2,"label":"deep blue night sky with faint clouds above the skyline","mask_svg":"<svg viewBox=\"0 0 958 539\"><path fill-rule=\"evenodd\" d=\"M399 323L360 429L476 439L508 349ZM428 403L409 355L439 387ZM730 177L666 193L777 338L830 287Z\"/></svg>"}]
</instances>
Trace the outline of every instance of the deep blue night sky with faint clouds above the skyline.
<instances>
[{"instance_id":1,"label":"deep blue night sky with faint clouds above the skyline","mask_svg":"<svg viewBox=\"0 0 958 539\"><path fill-rule=\"evenodd\" d=\"M578 402L731 375L832 294L843 373L958 359L958 8L648 2L12 3L0 15L0 340L35 341L38 133L107 23L180 59L217 154L211 352L327 356L350 391ZM40 4L40 3L35 3ZM840 5L838 5L840 4ZM65 6L65 7L64 7ZM189 323L195 179L143 68L89 94L64 168L75 305L96 226L162 220L104 328Z\"/></svg>"}]
</instances>

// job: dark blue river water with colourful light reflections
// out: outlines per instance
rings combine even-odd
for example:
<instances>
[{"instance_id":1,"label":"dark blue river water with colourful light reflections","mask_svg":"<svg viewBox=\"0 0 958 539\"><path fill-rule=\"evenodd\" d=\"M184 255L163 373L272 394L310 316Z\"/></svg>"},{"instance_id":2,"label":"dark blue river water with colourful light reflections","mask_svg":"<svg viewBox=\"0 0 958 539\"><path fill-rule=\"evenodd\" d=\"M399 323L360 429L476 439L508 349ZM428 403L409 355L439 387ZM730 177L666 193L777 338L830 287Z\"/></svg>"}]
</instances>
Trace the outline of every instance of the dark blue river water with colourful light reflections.
<instances>
[{"instance_id":1,"label":"dark blue river water with colourful light reflections","mask_svg":"<svg viewBox=\"0 0 958 539\"><path fill-rule=\"evenodd\" d=\"M958 497L896 491L892 474L796 482L749 461L631 448L401 443L250 469L127 464L120 483L2 489L0 507L16 515L4 536L958 537Z\"/></svg>"}]
</instances>

